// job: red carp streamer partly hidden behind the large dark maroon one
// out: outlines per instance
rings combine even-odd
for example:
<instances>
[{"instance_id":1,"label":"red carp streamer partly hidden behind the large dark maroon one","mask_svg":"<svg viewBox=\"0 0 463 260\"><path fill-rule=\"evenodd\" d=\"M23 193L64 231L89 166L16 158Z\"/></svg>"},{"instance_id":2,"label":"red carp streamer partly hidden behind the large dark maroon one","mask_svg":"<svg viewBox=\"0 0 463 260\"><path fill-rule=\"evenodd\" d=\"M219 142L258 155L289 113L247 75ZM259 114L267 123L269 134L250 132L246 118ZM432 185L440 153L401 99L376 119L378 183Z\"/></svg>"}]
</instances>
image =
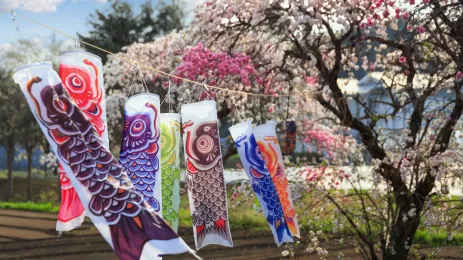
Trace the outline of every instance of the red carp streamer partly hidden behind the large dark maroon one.
<instances>
[{"instance_id":1,"label":"red carp streamer partly hidden behind the large dark maroon one","mask_svg":"<svg viewBox=\"0 0 463 260\"><path fill-rule=\"evenodd\" d=\"M87 116L109 150L101 58L89 52L76 50L61 53L59 62L59 76L70 98ZM61 206L56 230L70 231L82 224L85 210L61 165L59 174Z\"/></svg>"}]
</instances>

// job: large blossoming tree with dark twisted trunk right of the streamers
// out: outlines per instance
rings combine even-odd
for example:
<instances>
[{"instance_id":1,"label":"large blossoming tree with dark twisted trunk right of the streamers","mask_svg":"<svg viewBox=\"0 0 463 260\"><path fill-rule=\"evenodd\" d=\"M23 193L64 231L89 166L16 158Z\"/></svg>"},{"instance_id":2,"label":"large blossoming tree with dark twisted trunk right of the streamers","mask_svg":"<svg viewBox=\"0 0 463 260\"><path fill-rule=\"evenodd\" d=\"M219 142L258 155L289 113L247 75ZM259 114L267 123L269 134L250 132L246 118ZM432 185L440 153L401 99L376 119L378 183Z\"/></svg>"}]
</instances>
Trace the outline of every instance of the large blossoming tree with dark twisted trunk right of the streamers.
<instances>
[{"instance_id":1,"label":"large blossoming tree with dark twisted trunk right of the streamers","mask_svg":"<svg viewBox=\"0 0 463 260\"><path fill-rule=\"evenodd\" d=\"M309 177L319 181L307 185L342 216L336 221L349 226L366 258L406 259L421 219L449 237L462 223L461 202L447 198L450 186L461 189L463 166L448 160L460 153L462 12L459 0L220 0L198 10L190 33L208 48L258 61L263 74L274 75L275 93L310 91L324 113L304 123L312 129L308 141L321 137L315 124L358 138L349 151L372 158L373 188L362 191L361 180L339 172L328 183L324 174ZM374 100L341 83L361 70L382 73ZM403 128L389 127L400 120ZM350 161L363 163L361 156ZM333 176L351 183L356 196L329 193ZM360 206L345 207L349 197Z\"/></svg>"}]
</instances>

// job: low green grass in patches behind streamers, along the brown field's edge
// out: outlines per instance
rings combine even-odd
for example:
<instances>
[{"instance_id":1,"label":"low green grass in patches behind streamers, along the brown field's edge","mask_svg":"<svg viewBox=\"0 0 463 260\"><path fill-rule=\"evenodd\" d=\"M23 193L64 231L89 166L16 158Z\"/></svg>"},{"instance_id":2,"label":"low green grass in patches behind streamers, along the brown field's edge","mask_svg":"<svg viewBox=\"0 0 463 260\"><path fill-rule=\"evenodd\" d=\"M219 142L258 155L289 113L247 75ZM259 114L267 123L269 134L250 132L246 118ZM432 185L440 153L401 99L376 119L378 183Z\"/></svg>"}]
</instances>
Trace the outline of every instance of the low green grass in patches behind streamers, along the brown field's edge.
<instances>
[{"instance_id":1,"label":"low green grass in patches behind streamers, along the brown field's edge","mask_svg":"<svg viewBox=\"0 0 463 260\"><path fill-rule=\"evenodd\" d=\"M0 172L1 174L2 172ZM37 172L38 174L43 174ZM3 172L3 175L5 173ZM15 172L15 176L25 176L25 172ZM16 210L29 210L29 211L40 211L40 212L52 212L56 213L59 209L58 199L58 181L56 178L33 178L33 188L34 190L34 202L0 202L0 209L16 209ZM15 179L15 190L23 190L25 179L17 178ZM239 185L235 185L238 187ZM2 186L0 185L0 189ZM265 220L265 217L262 213L256 213L253 209L253 204L255 203L254 199L245 200L244 195L240 194L236 200L231 200L231 195L233 191L232 185L227 185L228 191L228 205L229 205L229 219L230 219L230 228L239 229L239 230L269 230L268 223ZM347 194L351 194L347 192ZM26 198L25 193L15 194L15 201L24 200ZM0 197L1 199L1 197ZM298 220L302 233L307 233L309 231L323 231L324 234L329 236L332 235L341 235L348 236L352 234L353 230L349 225L344 225L341 229L338 229L336 233L333 233L333 230L336 224L333 223L332 214L324 215L323 217L314 218L313 215L307 215L307 206L311 205L314 198L312 196L304 196L300 201L296 203L296 210L298 213ZM327 206L327 205L325 205ZM350 209L357 207L354 202L348 204ZM334 210L334 208L333 208ZM180 197L180 209L179 209L179 227L181 228L191 228L191 214L190 206L188 201L188 195L185 192ZM374 227L376 231L379 231L377 227ZM361 231L365 233L364 227L361 228ZM375 232L376 232L375 231ZM377 236L376 236L377 237ZM376 239L374 237L373 239ZM457 231L454 232L452 239L449 240L447 233L442 229L433 228L432 232L428 229L420 229L417 231L414 244L416 245L430 245L433 247L436 246L450 246L457 245L463 246L463 232Z\"/></svg>"}]
</instances>

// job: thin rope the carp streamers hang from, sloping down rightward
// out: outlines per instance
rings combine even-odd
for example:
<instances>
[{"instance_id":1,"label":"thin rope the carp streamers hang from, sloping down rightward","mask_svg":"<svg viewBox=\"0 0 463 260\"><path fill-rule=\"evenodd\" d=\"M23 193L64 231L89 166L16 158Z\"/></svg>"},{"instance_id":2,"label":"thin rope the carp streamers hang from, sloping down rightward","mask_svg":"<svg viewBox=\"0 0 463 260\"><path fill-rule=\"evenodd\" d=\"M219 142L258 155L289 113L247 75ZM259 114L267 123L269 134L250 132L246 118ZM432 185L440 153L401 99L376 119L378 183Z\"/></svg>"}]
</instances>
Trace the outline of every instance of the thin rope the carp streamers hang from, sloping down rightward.
<instances>
[{"instance_id":1,"label":"thin rope the carp streamers hang from, sloping down rightward","mask_svg":"<svg viewBox=\"0 0 463 260\"><path fill-rule=\"evenodd\" d=\"M9 9L9 8L6 8L6 7L3 7L3 6L1 6L1 5L0 5L0 8L2 8L2 9L4 9L4 10L7 10L7 11L9 11L9 12L14 12L14 10ZM15 13L15 12L14 12L14 13ZM153 67L151 67L151 66L148 66L148 65L145 65L145 64L142 64L142 63L138 63L137 61L128 59L128 58L126 58L126 57L124 57L124 56L121 56L121 55L119 55L119 54L115 54L115 53L113 53L113 52L111 52L111 51L108 51L108 50L106 50L106 49L103 49L103 48L101 48L101 47L98 47L98 46L96 46L96 45L93 45L93 44L91 44L91 43L82 41L82 40L80 40L80 39L78 39L78 38L75 38L75 37L73 37L73 36L71 36L71 35L69 35L69 34L67 34L67 33L64 33L64 32L62 32L62 31L59 31L58 29L55 29L55 28L53 28L53 27L50 27L50 26L48 26L48 25L46 25L46 24L43 24L43 23L41 23L41 22L39 22L39 21L36 21L36 20L34 20L34 19L32 19L32 18L29 18L29 17L27 17L27 16L25 16L25 15L20 15L20 14L17 14L17 13L15 13L15 15L16 15L17 17L21 17L21 18L23 18L23 19L26 19L26 20L32 22L32 23L35 23L35 24L40 25L40 26L42 26L42 27L45 27L45 28L47 28L47 29L49 29L49 30L51 30L51 31L53 31L53 32L56 32L56 33L61 34L61 35L63 35L63 36L66 36L66 37L68 37L68 38L70 38L70 39L72 39L72 40L74 40L74 41L83 43L83 44L85 44L85 45L87 45L87 46L90 46L90 47L92 47L92 48L94 48L94 49L97 49L97 50L99 50L99 51L102 51L102 52L105 52L105 53L107 53L107 54L113 55L113 56L115 56L115 57L117 57L117 58L119 58L119 59L121 59L121 60L124 60L124 61L126 61L126 62L129 62L129 63L131 63L131 64L133 64L133 65L135 65L135 66L139 66L139 67L142 67L142 68L145 68L145 69L147 69L147 70L151 70L151 71L157 72L157 73L159 73L159 74L162 74L162 75L165 75L165 76L168 76L168 77L171 77L171 78L176 78L176 79L179 79L179 80L183 80L183 81L185 81L185 82L189 82L189 83L201 85L201 86L203 86L204 88L206 88L206 90L207 90L207 88L212 88L212 89L216 89L216 90L219 90L219 91L227 91L227 92L232 92L232 93L237 93L237 94L242 94L242 95L250 95L250 96L264 96L264 97L273 97L273 98L289 97L289 95L279 95L279 94L278 94L277 96L275 96L275 95L270 95L270 94L256 94L256 93L249 93L249 92L238 91L238 90L233 90L233 89L219 88L219 87L210 86L210 85L207 85L207 84L204 84L204 83L201 83L201 82L197 82L197 81L194 81L194 80L191 80L191 79L179 77L179 76L177 76L177 75L173 75L173 74L170 74L170 73L167 73L167 72L158 70L158 69L153 68Z\"/></svg>"}]
</instances>

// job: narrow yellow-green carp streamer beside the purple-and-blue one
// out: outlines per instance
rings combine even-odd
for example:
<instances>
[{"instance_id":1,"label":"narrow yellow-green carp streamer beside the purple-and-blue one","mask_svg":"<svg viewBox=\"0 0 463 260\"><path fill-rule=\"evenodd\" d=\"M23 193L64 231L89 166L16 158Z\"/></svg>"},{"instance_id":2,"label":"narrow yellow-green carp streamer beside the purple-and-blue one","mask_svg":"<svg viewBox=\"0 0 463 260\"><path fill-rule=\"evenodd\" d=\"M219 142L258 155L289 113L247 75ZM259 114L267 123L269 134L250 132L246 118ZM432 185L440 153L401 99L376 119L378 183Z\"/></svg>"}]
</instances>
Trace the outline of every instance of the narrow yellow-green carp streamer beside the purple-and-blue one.
<instances>
[{"instance_id":1,"label":"narrow yellow-green carp streamer beside the purple-and-blue one","mask_svg":"<svg viewBox=\"0 0 463 260\"><path fill-rule=\"evenodd\" d=\"M178 230L180 207L180 114L161 114L162 217Z\"/></svg>"}]
</instances>

